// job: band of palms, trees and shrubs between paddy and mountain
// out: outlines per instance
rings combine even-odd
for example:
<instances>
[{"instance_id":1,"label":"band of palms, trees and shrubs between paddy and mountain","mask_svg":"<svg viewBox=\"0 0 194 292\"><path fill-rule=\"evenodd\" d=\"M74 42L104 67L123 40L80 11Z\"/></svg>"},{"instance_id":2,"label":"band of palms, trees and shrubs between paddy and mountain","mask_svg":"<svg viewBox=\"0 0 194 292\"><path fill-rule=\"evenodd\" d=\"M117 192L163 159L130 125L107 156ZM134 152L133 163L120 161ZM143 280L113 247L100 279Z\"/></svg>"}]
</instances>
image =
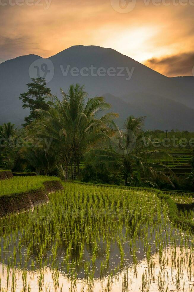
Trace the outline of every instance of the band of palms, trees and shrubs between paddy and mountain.
<instances>
[{"instance_id":1,"label":"band of palms, trees and shrubs between paddy and mountain","mask_svg":"<svg viewBox=\"0 0 194 292\"><path fill-rule=\"evenodd\" d=\"M193 133L144 131L145 117L123 129L103 97L71 85L53 96L42 78L20 95L30 109L24 128L0 126L0 167L68 180L193 190ZM193 152L194 153L194 152ZM184 177L184 178L183 178Z\"/></svg>"}]
</instances>

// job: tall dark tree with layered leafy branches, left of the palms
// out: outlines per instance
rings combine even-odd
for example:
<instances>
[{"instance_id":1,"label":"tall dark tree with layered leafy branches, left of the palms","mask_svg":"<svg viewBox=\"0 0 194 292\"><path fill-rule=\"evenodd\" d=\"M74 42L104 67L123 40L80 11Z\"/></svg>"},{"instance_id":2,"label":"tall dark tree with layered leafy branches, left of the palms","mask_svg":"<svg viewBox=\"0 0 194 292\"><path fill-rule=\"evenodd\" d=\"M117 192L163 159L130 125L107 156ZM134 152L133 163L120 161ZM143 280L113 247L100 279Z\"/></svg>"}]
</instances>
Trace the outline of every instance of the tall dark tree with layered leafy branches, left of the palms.
<instances>
[{"instance_id":1,"label":"tall dark tree with layered leafy branches, left of the palms","mask_svg":"<svg viewBox=\"0 0 194 292\"><path fill-rule=\"evenodd\" d=\"M25 124L29 125L37 117L37 109L47 111L49 106L52 105L50 101L46 101L46 98L51 94L50 88L46 87L44 78L32 78L31 83L27 83L28 92L20 94L19 99L23 101L23 108L29 108L30 114L25 117Z\"/></svg>"}]
</instances>

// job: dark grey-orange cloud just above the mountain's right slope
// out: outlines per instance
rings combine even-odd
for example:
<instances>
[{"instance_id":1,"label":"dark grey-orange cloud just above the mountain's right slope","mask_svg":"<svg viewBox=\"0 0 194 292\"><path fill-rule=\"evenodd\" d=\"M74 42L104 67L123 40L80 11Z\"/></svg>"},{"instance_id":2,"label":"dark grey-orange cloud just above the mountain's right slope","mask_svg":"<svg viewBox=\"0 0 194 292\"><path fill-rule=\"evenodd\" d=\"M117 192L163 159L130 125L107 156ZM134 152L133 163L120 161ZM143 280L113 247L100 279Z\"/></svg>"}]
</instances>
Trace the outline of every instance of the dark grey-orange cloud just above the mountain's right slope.
<instances>
[{"instance_id":1,"label":"dark grey-orange cloud just above the mountain's right slope","mask_svg":"<svg viewBox=\"0 0 194 292\"><path fill-rule=\"evenodd\" d=\"M180 53L162 58L152 58L144 65L168 77L192 76L194 66L194 52Z\"/></svg>"}]
</instances>

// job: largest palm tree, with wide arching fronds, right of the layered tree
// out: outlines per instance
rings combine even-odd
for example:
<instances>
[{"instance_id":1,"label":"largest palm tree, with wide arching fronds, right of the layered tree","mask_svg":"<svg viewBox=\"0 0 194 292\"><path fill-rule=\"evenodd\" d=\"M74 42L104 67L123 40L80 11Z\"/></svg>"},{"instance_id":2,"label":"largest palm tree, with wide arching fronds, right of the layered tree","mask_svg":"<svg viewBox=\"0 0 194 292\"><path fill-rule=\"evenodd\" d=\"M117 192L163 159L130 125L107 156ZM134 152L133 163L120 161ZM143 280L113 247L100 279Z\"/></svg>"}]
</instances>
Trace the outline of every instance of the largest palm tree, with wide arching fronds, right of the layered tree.
<instances>
[{"instance_id":1,"label":"largest palm tree, with wide arching fronds, right of the layered tree","mask_svg":"<svg viewBox=\"0 0 194 292\"><path fill-rule=\"evenodd\" d=\"M81 156L108 130L107 123L118 115L108 113L99 118L111 105L103 97L88 98L84 86L71 85L67 94L62 89L61 93L62 100L52 96L53 107L49 111L38 110L40 117L28 128L33 136L52 139L48 152L54 154L58 162L64 162L66 179L73 157L73 179L76 179Z\"/></svg>"}]
</instances>

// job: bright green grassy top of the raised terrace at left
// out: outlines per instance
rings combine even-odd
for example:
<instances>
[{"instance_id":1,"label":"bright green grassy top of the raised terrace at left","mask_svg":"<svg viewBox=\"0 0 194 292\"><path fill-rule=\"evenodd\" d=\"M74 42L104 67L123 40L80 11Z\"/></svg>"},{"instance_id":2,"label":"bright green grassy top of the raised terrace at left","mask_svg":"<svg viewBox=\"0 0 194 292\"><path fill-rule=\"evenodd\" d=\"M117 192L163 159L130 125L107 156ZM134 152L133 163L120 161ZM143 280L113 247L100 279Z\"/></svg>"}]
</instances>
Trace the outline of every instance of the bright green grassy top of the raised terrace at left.
<instances>
[{"instance_id":1,"label":"bright green grassy top of the raised terrace at left","mask_svg":"<svg viewBox=\"0 0 194 292\"><path fill-rule=\"evenodd\" d=\"M59 180L59 178L48 176L25 176L13 177L0 181L0 196L22 193L29 190L36 190L43 187L44 181Z\"/></svg>"}]
</instances>

